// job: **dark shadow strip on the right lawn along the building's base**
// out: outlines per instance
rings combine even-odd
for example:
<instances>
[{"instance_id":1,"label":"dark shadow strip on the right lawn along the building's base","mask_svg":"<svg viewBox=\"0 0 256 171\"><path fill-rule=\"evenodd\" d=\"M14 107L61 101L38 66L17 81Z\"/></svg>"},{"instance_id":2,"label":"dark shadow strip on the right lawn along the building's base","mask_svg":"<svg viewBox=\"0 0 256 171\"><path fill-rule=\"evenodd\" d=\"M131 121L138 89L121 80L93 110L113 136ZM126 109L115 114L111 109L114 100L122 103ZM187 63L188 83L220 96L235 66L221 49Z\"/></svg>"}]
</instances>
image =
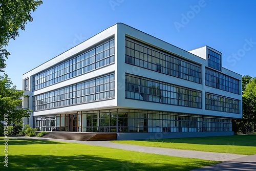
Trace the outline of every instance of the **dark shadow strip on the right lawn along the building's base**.
<instances>
[{"instance_id":1,"label":"dark shadow strip on the right lawn along the building's base","mask_svg":"<svg viewBox=\"0 0 256 171\"><path fill-rule=\"evenodd\" d=\"M256 146L256 135L233 135L220 137L194 137L194 138L170 138L170 139L150 139L137 141L152 142L173 142L187 144L208 144L208 145L241 145Z\"/></svg>"}]
</instances>

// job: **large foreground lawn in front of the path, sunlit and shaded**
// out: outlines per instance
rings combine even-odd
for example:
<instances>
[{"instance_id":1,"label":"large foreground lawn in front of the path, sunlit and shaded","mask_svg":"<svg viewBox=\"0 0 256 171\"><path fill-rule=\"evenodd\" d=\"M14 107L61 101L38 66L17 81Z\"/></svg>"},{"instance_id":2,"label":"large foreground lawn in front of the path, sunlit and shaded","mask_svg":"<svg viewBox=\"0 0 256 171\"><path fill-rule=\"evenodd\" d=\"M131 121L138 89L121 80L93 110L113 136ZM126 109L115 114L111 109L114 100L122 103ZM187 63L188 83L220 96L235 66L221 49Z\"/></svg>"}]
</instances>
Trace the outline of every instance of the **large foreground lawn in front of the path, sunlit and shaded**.
<instances>
[{"instance_id":1,"label":"large foreground lawn in front of the path, sunlit and shaded","mask_svg":"<svg viewBox=\"0 0 256 171\"><path fill-rule=\"evenodd\" d=\"M3 155L3 139L0 141ZM216 163L218 162L41 139L9 138L8 141L8 170L179 171ZM3 167L4 164L0 170L4 170Z\"/></svg>"}]
</instances>

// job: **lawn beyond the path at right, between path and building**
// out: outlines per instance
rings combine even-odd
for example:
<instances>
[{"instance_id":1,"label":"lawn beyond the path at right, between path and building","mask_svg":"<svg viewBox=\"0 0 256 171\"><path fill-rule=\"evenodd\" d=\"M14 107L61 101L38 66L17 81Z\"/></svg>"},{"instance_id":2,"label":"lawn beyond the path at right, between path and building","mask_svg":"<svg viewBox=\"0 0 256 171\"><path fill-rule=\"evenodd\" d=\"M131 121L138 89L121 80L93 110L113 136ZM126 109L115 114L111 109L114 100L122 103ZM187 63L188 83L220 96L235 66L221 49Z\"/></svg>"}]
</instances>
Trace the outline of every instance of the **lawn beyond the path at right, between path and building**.
<instances>
[{"instance_id":1,"label":"lawn beyond the path at right, between path and building","mask_svg":"<svg viewBox=\"0 0 256 171\"><path fill-rule=\"evenodd\" d=\"M152 147L189 149L204 152L219 152L241 155L256 154L256 135L234 135L221 137L173 138L112 142Z\"/></svg>"}]
</instances>

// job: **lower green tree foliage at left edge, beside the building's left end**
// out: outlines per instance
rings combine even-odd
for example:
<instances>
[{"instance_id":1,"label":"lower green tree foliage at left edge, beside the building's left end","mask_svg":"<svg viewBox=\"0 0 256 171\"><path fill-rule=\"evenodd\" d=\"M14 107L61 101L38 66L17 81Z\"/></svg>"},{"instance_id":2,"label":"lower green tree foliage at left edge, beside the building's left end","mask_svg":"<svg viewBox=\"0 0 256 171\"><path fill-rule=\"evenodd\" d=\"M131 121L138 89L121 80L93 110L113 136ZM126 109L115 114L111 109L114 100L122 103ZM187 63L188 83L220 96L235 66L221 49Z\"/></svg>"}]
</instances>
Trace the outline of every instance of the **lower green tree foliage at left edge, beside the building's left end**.
<instances>
[{"instance_id":1,"label":"lower green tree foliage at left edge, beside the building's left end","mask_svg":"<svg viewBox=\"0 0 256 171\"><path fill-rule=\"evenodd\" d=\"M6 74L0 76L0 120L7 121L8 125L28 117L30 109L17 108L22 103L24 91L16 90ZM4 119L7 116L7 119ZM7 122L5 122L7 123Z\"/></svg>"}]
</instances>

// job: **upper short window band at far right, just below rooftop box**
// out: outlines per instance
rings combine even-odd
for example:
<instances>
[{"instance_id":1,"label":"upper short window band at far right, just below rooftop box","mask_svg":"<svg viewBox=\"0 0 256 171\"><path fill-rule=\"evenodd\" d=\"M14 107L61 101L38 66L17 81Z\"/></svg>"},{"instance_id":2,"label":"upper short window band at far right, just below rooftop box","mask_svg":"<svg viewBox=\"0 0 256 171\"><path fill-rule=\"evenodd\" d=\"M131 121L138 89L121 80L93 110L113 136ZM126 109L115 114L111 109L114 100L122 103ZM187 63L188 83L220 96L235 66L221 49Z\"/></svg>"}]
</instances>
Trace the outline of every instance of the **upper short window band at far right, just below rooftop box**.
<instances>
[{"instance_id":1,"label":"upper short window band at far right, just below rooftop box","mask_svg":"<svg viewBox=\"0 0 256 171\"><path fill-rule=\"evenodd\" d=\"M205 85L239 94L239 80L205 68Z\"/></svg>"}]
</instances>

